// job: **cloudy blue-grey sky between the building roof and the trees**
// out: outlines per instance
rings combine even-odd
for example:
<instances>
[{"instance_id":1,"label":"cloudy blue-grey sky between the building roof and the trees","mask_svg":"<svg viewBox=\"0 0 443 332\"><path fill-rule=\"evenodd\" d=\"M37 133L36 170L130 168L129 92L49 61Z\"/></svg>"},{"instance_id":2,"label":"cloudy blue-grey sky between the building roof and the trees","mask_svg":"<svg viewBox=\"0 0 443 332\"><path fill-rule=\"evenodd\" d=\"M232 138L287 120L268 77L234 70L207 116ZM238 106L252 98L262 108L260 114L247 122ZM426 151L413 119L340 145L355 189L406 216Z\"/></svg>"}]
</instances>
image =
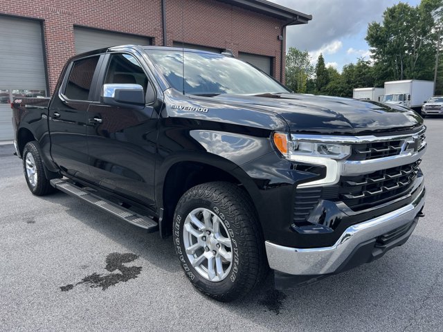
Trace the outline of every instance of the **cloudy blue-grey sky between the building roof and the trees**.
<instances>
[{"instance_id":1,"label":"cloudy blue-grey sky between the building roof and the trees","mask_svg":"<svg viewBox=\"0 0 443 332\"><path fill-rule=\"evenodd\" d=\"M381 21L386 8L395 0L270 0L312 15L312 21L287 28L287 48L308 50L314 60L323 53L325 62L341 71L358 57L369 59L365 41L368 24ZM403 0L417 6L419 0Z\"/></svg>"}]
</instances>

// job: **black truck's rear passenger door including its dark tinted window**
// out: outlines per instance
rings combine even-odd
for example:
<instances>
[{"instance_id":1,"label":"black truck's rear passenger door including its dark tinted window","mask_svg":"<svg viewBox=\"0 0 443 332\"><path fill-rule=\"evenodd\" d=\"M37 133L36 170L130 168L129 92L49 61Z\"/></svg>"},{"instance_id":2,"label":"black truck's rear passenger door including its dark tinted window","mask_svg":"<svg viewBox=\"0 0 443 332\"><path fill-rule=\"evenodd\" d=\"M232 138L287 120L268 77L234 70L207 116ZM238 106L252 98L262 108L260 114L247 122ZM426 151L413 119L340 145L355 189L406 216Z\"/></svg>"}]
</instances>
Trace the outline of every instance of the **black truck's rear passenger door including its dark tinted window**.
<instances>
[{"instance_id":1,"label":"black truck's rear passenger door including its dark tinted window","mask_svg":"<svg viewBox=\"0 0 443 332\"><path fill-rule=\"evenodd\" d=\"M87 110L91 86L95 86L103 55L77 59L69 65L60 91L49 109L51 156L60 168L73 176L90 180L87 147Z\"/></svg>"}]
</instances>

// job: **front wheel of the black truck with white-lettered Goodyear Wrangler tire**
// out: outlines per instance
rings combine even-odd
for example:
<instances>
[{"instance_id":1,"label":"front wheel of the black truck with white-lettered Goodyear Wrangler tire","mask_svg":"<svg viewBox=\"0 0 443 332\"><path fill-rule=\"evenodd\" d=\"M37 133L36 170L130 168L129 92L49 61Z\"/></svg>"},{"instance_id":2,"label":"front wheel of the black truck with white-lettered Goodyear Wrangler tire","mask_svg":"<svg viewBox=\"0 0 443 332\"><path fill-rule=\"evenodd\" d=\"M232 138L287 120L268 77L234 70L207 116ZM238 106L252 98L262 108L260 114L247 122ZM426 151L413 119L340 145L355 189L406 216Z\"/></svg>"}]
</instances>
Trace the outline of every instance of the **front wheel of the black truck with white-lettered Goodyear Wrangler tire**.
<instances>
[{"instance_id":1,"label":"front wheel of the black truck with white-lettered Goodyear Wrangler tire","mask_svg":"<svg viewBox=\"0 0 443 332\"><path fill-rule=\"evenodd\" d=\"M190 282L219 301L246 295L266 275L255 210L233 183L204 183L183 194L174 214L174 245Z\"/></svg>"}]
</instances>

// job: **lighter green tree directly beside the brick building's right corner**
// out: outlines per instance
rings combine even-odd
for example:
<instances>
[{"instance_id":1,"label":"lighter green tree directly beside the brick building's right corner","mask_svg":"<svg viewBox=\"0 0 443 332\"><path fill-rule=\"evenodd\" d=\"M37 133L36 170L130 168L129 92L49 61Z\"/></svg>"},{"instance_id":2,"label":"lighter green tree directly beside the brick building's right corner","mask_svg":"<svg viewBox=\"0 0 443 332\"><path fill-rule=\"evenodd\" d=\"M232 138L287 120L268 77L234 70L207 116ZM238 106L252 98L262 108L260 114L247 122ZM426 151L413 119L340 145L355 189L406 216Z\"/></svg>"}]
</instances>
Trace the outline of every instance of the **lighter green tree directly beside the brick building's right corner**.
<instances>
[{"instance_id":1,"label":"lighter green tree directly beside the brick building's right corner","mask_svg":"<svg viewBox=\"0 0 443 332\"><path fill-rule=\"evenodd\" d=\"M286 85L289 89L298 93L307 92L307 82L314 74L314 66L307 50L289 48L286 55Z\"/></svg>"}]
</instances>

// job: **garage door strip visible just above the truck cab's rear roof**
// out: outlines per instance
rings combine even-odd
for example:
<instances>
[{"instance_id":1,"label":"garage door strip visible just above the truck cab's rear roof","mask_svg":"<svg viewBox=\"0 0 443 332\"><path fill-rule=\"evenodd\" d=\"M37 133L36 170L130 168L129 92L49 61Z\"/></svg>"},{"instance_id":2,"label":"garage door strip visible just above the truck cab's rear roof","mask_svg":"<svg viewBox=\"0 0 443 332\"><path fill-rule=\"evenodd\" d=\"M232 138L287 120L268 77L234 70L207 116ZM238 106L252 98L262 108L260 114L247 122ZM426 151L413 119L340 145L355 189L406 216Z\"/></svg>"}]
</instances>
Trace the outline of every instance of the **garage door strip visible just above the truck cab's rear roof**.
<instances>
[{"instance_id":1,"label":"garage door strip visible just above the truck cab's rear roof","mask_svg":"<svg viewBox=\"0 0 443 332\"><path fill-rule=\"evenodd\" d=\"M114 33L111 31L94 30L74 27L75 53L84 53L89 50L119 45L150 45L148 37Z\"/></svg>"}]
</instances>

